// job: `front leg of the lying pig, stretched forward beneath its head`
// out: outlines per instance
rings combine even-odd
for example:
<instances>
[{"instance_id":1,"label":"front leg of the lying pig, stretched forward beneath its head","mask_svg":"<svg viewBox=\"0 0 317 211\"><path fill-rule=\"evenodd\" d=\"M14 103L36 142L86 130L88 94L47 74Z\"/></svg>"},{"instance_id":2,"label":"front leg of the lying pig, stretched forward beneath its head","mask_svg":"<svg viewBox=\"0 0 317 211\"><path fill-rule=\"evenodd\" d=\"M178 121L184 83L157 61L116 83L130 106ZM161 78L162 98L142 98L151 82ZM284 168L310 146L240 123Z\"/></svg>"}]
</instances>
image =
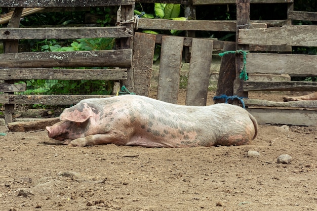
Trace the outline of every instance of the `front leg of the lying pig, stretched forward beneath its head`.
<instances>
[{"instance_id":1,"label":"front leg of the lying pig, stretched forward beneath its head","mask_svg":"<svg viewBox=\"0 0 317 211\"><path fill-rule=\"evenodd\" d=\"M127 141L123 139L118 139L113 136L113 134L95 134L86 136L84 138L78 138L72 140L68 146L72 147L84 147L84 146L94 146L100 144L116 144L116 145L125 145Z\"/></svg>"}]
</instances>

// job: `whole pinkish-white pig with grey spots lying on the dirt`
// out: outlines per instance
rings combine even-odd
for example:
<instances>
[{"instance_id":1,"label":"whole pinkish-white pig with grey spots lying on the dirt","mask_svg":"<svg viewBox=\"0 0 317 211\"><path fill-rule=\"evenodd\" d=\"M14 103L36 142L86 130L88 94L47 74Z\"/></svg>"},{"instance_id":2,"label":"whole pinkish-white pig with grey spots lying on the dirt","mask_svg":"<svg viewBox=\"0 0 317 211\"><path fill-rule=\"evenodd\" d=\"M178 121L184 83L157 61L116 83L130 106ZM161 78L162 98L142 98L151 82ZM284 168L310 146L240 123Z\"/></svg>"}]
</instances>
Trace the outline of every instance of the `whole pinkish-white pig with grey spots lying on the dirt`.
<instances>
[{"instance_id":1,"label":"whole pinkish-white pig with grey spots lying on the dirt","mask_svg":"<svg viewBox=\"0 0 317 211\"><path fill-rule=\"evenodd\" d=\"M68 146L242 145L258 130L256 119L240 106L184 106L138 95L82 100L66 108L60 120L46 127L48 136Z\"/></svg>"}]
</instances>

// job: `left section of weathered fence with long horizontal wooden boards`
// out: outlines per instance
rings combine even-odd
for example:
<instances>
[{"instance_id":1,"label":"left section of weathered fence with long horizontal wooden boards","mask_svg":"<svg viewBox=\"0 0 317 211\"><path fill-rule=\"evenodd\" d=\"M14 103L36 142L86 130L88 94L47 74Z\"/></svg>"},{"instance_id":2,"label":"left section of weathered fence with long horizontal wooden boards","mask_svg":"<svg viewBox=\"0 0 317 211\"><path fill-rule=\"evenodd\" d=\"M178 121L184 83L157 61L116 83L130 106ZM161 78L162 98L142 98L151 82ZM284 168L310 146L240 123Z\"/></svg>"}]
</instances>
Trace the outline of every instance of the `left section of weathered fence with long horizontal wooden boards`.
<instances>
[{"instance_id":1,"label":"left section of weathered fence with long horizontal wooden boards","mask_svg":"<svg viewBox=\"0 0 317 211\"><path fill-rule=\"evenodd\" d=\"M4 40L5 54L0 54L0 103L5 104L6 123L12 122L14 104L71 105L85 98L108 97L93 95L14 95L25 91L25 85L14 85L15 80L24 79L97 79L116 80L124 84L128 72L133 68L133 23L117 27L73 27L73 28L19 28L23 8L74 8L91 6L117 6L117 22L132 19L133 0L106 1L2 1L0 7L15 8L7 28L0 28L0 39ZM117 50L75 52L28 52L18 53L19 39L74 39L111 37L120 39ZM76 67L114 67L113 69L79 69ZM53 69L53 67L55 67ZM71 69L56 69L70 67ZM130 82L130 81L129 81Z\"/></svg>"}]
</instances>

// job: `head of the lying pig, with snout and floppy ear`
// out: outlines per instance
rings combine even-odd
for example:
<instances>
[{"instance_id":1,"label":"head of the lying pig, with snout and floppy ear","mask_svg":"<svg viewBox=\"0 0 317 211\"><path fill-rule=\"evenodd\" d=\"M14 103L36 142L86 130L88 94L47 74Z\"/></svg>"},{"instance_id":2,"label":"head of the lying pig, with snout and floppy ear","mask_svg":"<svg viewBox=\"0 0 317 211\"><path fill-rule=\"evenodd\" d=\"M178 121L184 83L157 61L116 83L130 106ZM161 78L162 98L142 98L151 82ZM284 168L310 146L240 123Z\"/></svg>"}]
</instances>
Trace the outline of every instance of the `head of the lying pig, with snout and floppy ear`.
<instances>
[{"instance_id":1,"label":"head of the lying pig, with snout and floppy ear","mask_svg":"<svg viewBox=\"0 0 317 211\"><path fill-rule=\"evenodd\" d=\"M66 108L60 115L60 122L46 127L48 136L59 141L85 137L90 126L89 119L94 113L91 106L84 102Z\"/></svg>"}]
</instances>

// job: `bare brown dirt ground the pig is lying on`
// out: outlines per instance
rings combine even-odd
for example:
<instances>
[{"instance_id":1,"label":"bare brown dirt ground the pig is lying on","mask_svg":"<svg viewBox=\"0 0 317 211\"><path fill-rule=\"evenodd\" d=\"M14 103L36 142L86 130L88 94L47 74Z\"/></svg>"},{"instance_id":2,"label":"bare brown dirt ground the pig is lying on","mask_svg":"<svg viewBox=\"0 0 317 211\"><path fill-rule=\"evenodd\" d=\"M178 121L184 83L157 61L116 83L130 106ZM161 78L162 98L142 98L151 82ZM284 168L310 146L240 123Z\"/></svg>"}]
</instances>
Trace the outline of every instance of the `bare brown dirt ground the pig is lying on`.
<instances>
[{"instance_id":1,"label":"bare brown dirt ground the pig is lying on","mask_svg":"<svg viewBox=\"0 0 317 211\"><path fill-rule=\"evenodd\" d=\"M0 210L317 210L314 126L260 125L249 145L182 149L69 148L46 131L0 133ZM281 154L291 162L277 163Z\"/></svg>"}]
</instances>

